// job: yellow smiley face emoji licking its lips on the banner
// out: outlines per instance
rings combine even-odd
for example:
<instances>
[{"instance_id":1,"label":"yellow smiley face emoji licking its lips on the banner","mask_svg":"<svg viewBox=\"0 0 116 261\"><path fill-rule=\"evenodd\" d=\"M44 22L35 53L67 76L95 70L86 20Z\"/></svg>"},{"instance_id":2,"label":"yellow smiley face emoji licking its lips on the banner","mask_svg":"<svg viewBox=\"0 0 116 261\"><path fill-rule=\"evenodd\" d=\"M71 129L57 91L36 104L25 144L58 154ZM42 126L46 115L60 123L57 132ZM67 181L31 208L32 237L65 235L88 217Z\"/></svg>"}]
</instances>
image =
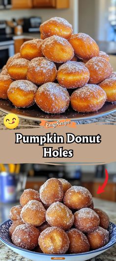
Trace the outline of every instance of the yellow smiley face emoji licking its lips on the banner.
<instances>
[{"instance_id":1,"label":"yellow smiley face emoji licking its lips on the banner","mask_svg":"<svg viewBox=\"0 0 116 261\"><path fill-rule=\"evenodd\" d=\"M10 113L4 117L4 125L8 129L15 129L19 125L19 118L17 115Z\"/></svg>"}]
</instances>

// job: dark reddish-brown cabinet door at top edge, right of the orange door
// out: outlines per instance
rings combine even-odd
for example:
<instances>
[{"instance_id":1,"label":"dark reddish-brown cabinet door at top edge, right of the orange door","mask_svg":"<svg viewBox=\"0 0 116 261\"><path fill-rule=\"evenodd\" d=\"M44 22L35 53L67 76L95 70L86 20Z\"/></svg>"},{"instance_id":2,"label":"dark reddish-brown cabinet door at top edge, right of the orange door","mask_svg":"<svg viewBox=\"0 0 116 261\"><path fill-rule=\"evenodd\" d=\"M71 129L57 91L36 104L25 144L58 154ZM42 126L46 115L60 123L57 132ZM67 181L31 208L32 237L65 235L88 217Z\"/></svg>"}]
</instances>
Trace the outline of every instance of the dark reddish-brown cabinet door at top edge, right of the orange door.
<instances>
[{"instance_id":1,"label":"dark reddish-brown cabinet door at top edge, right of the orange door","mask_svg":"<svg viewBox=\"0 0 116 261\"><path fill-rule=\"evenodd\" d=\"M33 0L33 7L55 8L56 7L56 0Z\"/></svg>"}]
</instances>

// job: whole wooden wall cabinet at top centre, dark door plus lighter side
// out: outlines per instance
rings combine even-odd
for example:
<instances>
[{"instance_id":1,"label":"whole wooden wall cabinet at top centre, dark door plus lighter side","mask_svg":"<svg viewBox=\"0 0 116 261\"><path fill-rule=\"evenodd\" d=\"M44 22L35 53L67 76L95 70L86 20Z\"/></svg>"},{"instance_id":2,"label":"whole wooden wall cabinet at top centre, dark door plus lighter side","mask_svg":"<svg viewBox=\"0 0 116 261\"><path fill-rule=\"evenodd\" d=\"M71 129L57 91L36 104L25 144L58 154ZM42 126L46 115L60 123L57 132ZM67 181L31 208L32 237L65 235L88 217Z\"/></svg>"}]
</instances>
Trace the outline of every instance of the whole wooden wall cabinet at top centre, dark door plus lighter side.
<instances>
[{"instance_id":1,"label":"whole wooden wall cabinet at top centre, dark door plus lighter side","mask_svg":"<svg viewBox=\"0 0 116 261\"><path fill-rule=\"evenodd\" d=\"M38 8L69 8L69 0L33 0L33 7Z\"/></svg>"}]
</instances>

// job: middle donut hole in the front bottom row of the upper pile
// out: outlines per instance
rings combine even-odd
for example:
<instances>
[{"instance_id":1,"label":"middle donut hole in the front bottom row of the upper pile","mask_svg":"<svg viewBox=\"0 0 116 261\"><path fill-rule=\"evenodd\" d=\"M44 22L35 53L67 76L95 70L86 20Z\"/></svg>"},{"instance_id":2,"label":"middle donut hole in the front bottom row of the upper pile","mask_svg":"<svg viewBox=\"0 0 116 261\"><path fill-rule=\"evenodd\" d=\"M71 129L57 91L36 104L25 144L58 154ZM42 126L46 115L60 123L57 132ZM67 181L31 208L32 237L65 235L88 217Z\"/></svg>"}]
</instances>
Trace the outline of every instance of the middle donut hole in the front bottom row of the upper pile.
<instances>
[{"instance_id":1,"label":"middle donut hole in the front bottom row of the upper pile","mask_svg":"<svg viewBox=\"0 0 116 261\"><path fill-rule=\"evenodd\" d=\"M66 88L56 83L46 83L38 88L35 102L42 111L59 114L68 109L70 97Z\"/></svg>"}]
</instances>

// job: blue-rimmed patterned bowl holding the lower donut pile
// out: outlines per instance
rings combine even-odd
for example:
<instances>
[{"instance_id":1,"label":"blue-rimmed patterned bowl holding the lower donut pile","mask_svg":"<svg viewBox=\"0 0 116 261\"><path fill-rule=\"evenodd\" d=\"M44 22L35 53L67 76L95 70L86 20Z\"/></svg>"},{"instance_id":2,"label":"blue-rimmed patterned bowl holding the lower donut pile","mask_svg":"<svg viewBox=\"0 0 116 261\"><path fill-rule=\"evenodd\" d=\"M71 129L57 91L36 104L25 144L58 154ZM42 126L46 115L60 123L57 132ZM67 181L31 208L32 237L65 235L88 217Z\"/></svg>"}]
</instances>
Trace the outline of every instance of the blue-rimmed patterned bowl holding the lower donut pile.
<instances>
[{"instance_id":1,"label":"blue-rimmed patterned bowl holding the lower donut pile","mask_svg":"<svg viewBox=\"0 0 116 261\"><path fill-rule=\"evenodd\" d=\"M66 261L86 261L91 258L94 258L103 252L110 249L112 246L116 244L116 225L110 222L109 225L109 232L110 232L110 241L109 243L97 250L93 250L87 253L76 254L76 255L46 255L46 254L39 254L33 251L25 250L23 248L17 247L12 243L11 238L9 237L9 227L11 226L12 221L7 220L0 225L0 240L10 249L12 249L17 254L33 260L33 261L50 261L50 260L66 260Z\"/></svg>"}]
</instances>

